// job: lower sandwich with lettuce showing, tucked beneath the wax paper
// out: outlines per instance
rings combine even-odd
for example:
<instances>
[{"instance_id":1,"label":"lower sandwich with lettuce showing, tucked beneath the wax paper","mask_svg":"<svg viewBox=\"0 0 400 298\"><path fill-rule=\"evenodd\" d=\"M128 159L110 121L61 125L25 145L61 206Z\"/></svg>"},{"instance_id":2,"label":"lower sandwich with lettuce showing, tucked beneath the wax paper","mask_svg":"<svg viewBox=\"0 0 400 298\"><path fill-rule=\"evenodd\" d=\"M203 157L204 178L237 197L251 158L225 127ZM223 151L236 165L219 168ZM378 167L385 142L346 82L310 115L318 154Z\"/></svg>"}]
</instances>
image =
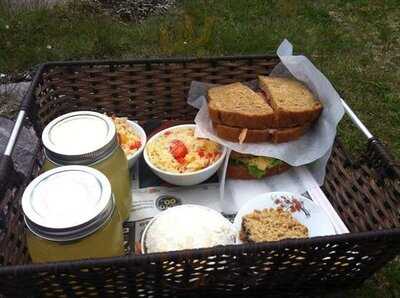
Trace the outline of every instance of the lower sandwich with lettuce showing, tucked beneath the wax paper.
<instances>
[{"instance_id":1,"label":"lower sandwich with lettuce showing, tucked beneath the wax paper","mask_svg":"<svg viewBox=\"0 0 400 298\"><path fill-rule=\"evenodd\" d=\"M254 156L232 151L227 177L232 179L262 179L287 171L290 165L272 157Z\"/></svg>"}]
</instances>

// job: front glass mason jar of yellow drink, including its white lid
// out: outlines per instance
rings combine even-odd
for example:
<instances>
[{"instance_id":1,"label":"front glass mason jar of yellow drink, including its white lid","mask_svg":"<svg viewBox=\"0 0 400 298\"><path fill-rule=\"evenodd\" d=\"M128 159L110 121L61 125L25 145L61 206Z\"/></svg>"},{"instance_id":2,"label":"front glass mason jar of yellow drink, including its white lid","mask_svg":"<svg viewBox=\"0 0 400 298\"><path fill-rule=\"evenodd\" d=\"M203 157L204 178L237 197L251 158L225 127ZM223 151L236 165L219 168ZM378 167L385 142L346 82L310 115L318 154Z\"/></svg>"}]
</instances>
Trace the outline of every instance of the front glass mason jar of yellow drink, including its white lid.
<instances>
[{"instance_id":1,"label":"front glass mason jar of yellow drink, including its white lid","mask_svg":"<svg viewBox=\"0 0 400 298\"><path fill-rule=\"evenodd\" d=\"M22 196L33 262L124 254L122 220L105 175L65 166L35 178Z\"/></svg>"}]
</instances>

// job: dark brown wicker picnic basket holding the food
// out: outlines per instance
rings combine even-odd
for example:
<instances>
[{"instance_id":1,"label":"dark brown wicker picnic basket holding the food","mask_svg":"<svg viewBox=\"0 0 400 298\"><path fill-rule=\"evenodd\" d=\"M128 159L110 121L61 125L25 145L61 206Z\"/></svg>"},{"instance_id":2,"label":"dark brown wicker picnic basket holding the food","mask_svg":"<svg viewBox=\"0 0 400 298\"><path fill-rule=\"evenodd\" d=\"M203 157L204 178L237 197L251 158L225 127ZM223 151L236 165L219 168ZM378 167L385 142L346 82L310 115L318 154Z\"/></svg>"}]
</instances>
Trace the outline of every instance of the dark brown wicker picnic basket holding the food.
<instances>
[{"instance_id":1,"label":"dark brown wicker picnic basket holding the food","mask_svg":"<svg viewBox=\"0 0 400 298\"><path fill-rule=\"evenodd\" d=\"M41 148L24 176L10 154L24 120L40 136L55 117L95 110L193 120L193 80L225 84L269 74L275 56L42 65L0 162L0 294L6 297L313 295L357 287L400 252L400 168L376 138L352 160L335 143L323 190L350 234L109 259L31 264L20 198L38 174ZM12 156L12 155L11 155ZM130 230L127 226L127 237Z\"/></svg>"}]
</instances>

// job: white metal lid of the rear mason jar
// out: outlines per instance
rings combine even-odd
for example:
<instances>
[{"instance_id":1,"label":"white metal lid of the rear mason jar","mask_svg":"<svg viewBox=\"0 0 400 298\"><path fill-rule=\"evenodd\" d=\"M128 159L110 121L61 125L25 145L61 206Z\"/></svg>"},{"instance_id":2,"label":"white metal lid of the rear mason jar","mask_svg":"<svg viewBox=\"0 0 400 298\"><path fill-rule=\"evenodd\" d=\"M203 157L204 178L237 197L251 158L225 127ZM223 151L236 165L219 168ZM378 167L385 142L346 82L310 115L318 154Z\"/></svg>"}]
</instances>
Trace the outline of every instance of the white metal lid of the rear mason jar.
<instances>
[{"instance_id":1,"label":"white metal lid of the rear mason jar","mask_svg":"<svg viewBox=\"0 0 400 298\"><path fill-rule=\"evenodd\" d=\"M107 157L118 146L111 118L79 111L51 121L42 133L48 159L59 165L88 165Z\"/></svg>"}]
</instances>

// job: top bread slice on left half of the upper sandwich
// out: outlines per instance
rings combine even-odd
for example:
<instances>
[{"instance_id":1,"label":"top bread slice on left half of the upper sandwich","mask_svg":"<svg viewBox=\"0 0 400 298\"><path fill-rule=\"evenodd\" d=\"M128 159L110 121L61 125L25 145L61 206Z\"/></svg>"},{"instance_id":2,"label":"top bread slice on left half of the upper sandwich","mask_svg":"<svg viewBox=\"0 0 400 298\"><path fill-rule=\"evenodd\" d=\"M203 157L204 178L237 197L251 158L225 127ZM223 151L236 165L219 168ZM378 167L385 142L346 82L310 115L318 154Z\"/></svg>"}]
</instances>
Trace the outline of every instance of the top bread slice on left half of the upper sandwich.
<instances>
[{"instance_id":1,"label":"top bread slice on left half of the upper sandwich","mask_svg":"<svg viewBox=\"0 0 400 298\"><path fill-rule=\"evenodd\" d=\"M231 126L262 129L276 122L265 98L242 83L208 90L208 112L213 122Z\"/></svg>"}]
</instances>

